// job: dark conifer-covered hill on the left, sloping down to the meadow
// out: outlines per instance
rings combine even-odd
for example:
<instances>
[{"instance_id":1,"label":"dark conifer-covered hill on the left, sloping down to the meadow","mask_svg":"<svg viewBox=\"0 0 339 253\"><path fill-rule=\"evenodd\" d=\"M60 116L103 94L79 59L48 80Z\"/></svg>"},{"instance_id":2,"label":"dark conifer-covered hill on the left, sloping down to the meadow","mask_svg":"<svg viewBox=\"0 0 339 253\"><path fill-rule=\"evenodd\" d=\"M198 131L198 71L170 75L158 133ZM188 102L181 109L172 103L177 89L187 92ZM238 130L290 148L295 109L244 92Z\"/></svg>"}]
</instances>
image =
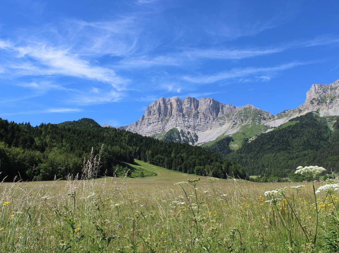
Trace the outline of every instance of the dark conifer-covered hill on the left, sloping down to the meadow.
<instances>
[{"instance_id":1,"label":"dark conifer-covered hill on the left, sloping down to the meadow","mask_svg":"<svg viewBox=\"0 0 339 253\"><path fill-rule=\"evenodd\" d=\"M103 128L92 119L33 127L0 118L0 180L52 180L81 174L84 157L103 144L101 174L108 176L121 162L139 159L167 169L227 178L245 178L242 168L202 147L164 142L151 137Z\"/></svg>"}]
</instances>

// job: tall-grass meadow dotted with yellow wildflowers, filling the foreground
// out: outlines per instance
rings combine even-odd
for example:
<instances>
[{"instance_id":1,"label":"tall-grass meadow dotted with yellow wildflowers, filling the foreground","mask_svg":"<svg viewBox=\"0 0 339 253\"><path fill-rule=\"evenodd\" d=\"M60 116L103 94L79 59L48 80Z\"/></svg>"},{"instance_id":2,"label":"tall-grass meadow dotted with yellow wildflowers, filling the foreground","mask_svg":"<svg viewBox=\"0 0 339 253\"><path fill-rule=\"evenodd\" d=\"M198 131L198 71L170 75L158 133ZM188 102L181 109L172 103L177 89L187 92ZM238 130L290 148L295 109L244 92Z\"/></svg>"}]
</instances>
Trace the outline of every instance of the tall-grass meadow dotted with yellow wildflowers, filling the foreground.
<instances>
[{"instance_id":1,"label":"tall-grass meadow dotted with yellow wildflowers, filling the foreground","mask_svg":"<svg viewBox=\"0 0 339 253\"><path fill-rule=\"evenodd\" d=\"M283 221L292 228L290 252L311 252L287 202L279 200L275 208L264 196L288 187L286 197L311 237L311 183L297 193L290 188L295 183L198 181L141 161L131 166L157 176L2 183L0 252L288 252ZM318 195L316 252L334 252L326 249L338 245L331 233L338 222L328 220L337 200Z\"/></svg>"}]
</instances>

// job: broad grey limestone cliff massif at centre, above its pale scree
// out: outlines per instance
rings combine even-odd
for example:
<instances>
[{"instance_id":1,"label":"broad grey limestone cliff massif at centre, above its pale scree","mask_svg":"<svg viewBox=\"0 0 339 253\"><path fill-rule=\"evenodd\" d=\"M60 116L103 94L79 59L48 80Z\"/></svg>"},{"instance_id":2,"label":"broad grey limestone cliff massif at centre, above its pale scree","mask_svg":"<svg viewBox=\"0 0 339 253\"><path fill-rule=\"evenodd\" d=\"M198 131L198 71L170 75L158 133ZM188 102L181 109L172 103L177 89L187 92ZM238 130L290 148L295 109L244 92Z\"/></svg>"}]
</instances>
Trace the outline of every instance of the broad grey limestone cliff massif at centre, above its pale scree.
<instances>
[{"instance_id":1,"label":"broad grey limestone cliff massif at centre, above its pale scree","mask_svg":"<svg viewBox=\"0 0 339 253\"><path fill-rule=\"evenodd\" d=\"M271 113L251 105L236 108L213 98L202 97L197 100L186 97L182 100L172 97L152 102L138 121L120 129L146 136L159 136L160 133L173 128L185 130L185 133L191 131L194 134L217 130L225 124L231 127L248 122L262 123L273 117ZM223 133L225 132L227 129L223 130Z\"/></svg>"}]
</instances>

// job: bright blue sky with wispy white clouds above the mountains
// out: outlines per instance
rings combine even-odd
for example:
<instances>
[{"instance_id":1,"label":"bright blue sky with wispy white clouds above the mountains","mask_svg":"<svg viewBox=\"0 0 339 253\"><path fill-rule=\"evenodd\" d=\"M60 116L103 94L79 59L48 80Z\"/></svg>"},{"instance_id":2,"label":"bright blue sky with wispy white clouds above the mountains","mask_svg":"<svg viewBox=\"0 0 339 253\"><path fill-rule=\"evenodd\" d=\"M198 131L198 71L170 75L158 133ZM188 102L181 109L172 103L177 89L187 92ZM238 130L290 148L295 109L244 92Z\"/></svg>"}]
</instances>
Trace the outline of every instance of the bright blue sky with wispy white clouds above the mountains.
<instances>
[{"instance_id":1,"label":"bright blue sky with wispy white clouds above the mountains","mask_svg":"<svg viewBox=\"0 0 339 253\"><path fill-rule=\"evenodd\" d=\"M0 2L0 117L133 123L160 97L277 114L339 79L338 1Z\"/></svg>"}]
</instances>

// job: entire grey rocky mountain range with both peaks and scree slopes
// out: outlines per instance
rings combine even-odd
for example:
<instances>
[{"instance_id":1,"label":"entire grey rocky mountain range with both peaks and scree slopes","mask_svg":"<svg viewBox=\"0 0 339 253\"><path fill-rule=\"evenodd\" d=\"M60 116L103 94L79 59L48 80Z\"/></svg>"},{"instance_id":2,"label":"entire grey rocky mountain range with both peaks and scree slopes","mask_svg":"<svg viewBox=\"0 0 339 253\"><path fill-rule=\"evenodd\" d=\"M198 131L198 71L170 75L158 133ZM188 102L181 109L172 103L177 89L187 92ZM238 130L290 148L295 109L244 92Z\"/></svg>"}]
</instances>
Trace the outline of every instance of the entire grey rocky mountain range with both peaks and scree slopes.
<instances>
[{"instance_id":1,"label":"entire grey rocky mountain range with both peaks and scree slopes","mask_svg":"<svg viewBox=\"0 0 339 253\"><path fill-rule=\"evenodd\" d=\"M192 145L235 133L242 133L240 138L251 138L307 112L317 112L320 116L339 115L338 87L339 80L330 85L314 84L301 106L277 116L252 105L235 107L213 98L160 98L146 108L138 121L119 129ZM238 144L234 145L237 149Z\"/></svg>"}]
</instances>

